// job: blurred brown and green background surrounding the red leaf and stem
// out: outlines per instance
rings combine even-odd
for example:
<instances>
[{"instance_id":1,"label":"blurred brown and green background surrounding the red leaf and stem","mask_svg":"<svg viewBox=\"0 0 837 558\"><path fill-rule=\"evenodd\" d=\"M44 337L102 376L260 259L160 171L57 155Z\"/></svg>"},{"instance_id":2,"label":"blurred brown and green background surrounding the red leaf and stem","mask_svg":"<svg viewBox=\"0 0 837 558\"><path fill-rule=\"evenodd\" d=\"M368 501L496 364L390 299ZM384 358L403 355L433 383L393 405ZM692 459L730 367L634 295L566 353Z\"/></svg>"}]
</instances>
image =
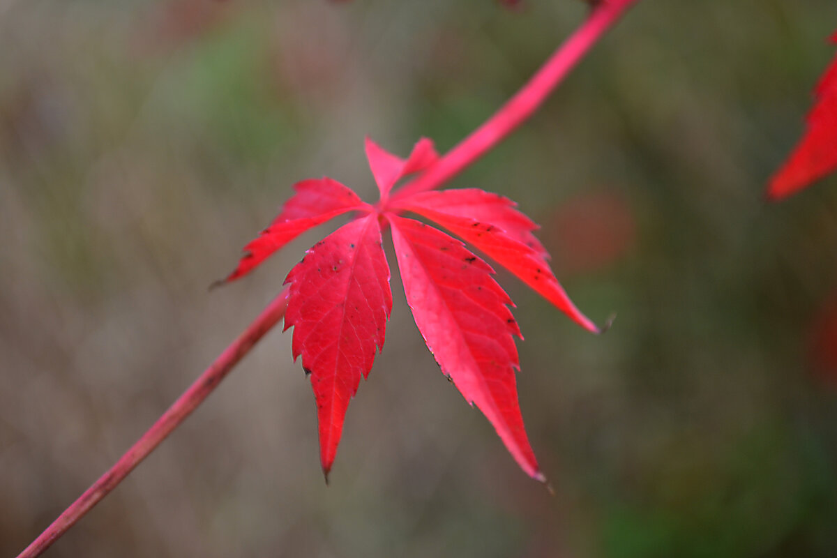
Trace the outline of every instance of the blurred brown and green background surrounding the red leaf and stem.
<instances>
[{"instance_id":1,"label":"blurred brown and green background surrounding the red leaf and stem","mask_svg":"<svg viewBox=\"0 0 837 558\"><path fill-rule=\"evenodd\" d=\"M208 293L293 182L371 199L364 135L449 149L587 9L515 4L0 0L0 555L328 232ZM499 276L554 497L439 375L391 259L331 486L277 329L48 555L837 555L837 179L763 202L835 24L833 0L639 3L452 182L520 202L578 305L619 315L594 337Z\"/></svg>"}]
</instances>

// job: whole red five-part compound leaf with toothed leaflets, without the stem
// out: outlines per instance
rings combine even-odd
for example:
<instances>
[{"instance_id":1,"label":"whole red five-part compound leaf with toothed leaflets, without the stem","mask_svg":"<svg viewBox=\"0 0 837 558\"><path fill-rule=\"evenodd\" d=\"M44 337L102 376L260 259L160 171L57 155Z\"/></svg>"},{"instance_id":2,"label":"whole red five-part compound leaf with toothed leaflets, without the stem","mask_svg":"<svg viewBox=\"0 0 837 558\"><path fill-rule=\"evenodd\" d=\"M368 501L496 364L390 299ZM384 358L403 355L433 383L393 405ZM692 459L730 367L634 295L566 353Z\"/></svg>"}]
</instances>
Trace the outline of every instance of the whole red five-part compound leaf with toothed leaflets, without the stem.
<instances>
[{"instance_id":1,"label":"whole red five-part compound leaf with toothed leaflets, without the stem","mask_svg":"<svg viewBox=\"0 0 837 558\"><path fill-rule=\"evenodd\" d=\"M481 190L389 192L403 177L439 159L422 139L405 160L367 139L367 158L381 192L374 206L330 178L303 181L280 215L246 247L226 279L249 273L302 231L349 211L361 216L306 252L290 271L285 329L294 326L294 358L311 378L317 403L323 472L331 471L348 402L383 346L392 308L381 223L392 227L407 302L429 350L465 399L496 428L521 468L544 480L517 402L514 335L509 299L494 270L462 242L436 228L399 217L416 212L480 248L588 330L598 328L573 305L547 264L548 254L530 218L511 200Z\"/></svg>"}]
</instances>

